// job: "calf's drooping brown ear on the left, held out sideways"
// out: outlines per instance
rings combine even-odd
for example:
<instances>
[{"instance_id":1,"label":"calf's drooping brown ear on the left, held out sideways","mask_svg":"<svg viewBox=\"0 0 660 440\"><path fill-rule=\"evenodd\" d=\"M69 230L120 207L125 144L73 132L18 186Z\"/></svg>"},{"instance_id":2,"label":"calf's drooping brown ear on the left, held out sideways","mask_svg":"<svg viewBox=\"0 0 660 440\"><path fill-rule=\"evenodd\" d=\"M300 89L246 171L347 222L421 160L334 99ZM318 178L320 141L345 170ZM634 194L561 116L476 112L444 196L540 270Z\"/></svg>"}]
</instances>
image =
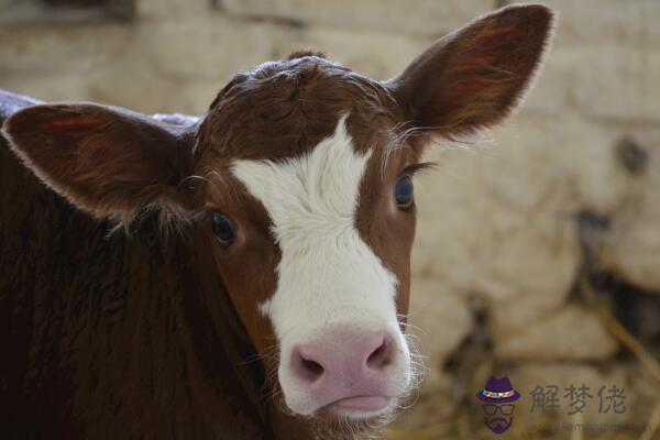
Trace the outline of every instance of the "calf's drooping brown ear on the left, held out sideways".
<instances>
[{"instance_id":1,"label":"calf's drooping brown ear on the left, held out sideways","mask_svg":"<svg viewBox=\"0 0 660 440\"><path fill-rule=\"evenodd\" d=\"M3 125L13 151L74 205L128 224L154 202L184 204L190 168L184 128L91 103L29 107Z\"/></svg>"}]
</instances>

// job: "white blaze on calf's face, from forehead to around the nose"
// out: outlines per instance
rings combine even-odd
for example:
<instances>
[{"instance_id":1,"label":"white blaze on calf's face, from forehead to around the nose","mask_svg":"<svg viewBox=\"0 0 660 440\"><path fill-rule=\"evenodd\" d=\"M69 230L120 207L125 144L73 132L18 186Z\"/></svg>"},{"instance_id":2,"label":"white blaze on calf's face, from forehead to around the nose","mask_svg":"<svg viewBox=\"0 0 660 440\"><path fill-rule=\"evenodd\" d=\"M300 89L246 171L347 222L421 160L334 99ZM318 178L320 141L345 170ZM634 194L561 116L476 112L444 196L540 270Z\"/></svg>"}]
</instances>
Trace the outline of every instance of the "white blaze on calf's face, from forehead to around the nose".
<instances>
[{"instance_id":1,"label":"white blaze on calf's face, from forehead to around the nose","mask_svg":"<svg viewBox=\"0 0 660 440\"><path fill-rule=\"evenodd\" d=\"M355 152L344 117L310 154L280 163L237 161L233 174L266 208L282 252L276 290L258 306L273 322L280 360L296 345L328 338L330 329L386 330L402 352L395 370L406 376L393 387L405 387L409 353L396 319L397 279L354 224L370 156ZM280 362L279 382L289 407L305 414L305 392L289 370Z\"/></svg>"}]
</instances>

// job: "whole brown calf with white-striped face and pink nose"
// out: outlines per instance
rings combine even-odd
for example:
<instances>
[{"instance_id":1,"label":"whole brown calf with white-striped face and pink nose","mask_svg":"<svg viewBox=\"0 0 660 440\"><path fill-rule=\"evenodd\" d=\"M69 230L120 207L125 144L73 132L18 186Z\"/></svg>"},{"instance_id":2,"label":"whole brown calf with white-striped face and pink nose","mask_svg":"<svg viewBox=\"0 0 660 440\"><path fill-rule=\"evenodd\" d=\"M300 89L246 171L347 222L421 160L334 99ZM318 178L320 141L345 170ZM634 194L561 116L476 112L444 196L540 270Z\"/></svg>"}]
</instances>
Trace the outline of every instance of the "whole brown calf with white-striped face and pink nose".
<instances>
[{"instance_id":1,"label":"whole brown calf with white-striped face and pink nose","mask_svg":"<svg viewBox=\"0 0 660 440\"><path fill-rule=\"evenodd\" d=\"M416 385L422 151L502 122L552 21L498 10L383 82L296 53L201 118L0 95L0 430L290 440L387 419Z\"/></svg>"}]
</instances>

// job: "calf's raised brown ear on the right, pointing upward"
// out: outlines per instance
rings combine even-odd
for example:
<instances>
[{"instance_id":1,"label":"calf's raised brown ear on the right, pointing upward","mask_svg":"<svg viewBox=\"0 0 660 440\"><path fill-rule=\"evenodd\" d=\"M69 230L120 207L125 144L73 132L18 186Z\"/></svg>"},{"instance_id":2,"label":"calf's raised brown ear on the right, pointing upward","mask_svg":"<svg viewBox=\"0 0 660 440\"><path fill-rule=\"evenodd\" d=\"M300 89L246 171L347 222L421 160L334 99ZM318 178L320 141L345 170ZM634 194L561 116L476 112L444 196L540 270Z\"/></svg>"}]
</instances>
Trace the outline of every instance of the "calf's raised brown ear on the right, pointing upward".
<instances>
[{"instance_id":1,"label":"calf's raised brown ear on the right, pointing upward","mask_svg":"<svg viewBox=\"0 0 660 440\"><path fill-rule=\"evenodd\" d=\"M553 22L543 6L501 9L440 38L385 85L424 131L454 138L491 128L524 98Z\"/></svg>"}]
</instances>

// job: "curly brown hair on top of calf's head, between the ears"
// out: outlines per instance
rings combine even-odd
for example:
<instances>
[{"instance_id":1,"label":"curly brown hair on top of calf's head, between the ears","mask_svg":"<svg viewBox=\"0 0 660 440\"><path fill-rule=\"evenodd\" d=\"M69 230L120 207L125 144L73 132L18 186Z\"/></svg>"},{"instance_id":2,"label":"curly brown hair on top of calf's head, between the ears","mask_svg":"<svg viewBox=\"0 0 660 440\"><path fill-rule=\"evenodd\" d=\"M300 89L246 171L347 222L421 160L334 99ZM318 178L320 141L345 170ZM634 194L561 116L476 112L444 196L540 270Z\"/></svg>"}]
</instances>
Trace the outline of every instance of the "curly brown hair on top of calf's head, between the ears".
<instances>
[{"instance_id":1,"label":"curly brown hair on top of calf's head, between the ears","mask_svg":"<svg viewBox=\"0 0 660 440\"><path fill-rule=\"evenodd\" d=\"M200 128L200 146L212 157L297 157L350 113L360 150L392 130L398 111L385 87L336 63L316 56L266 63L219 92Z\"/></svg>"}]
</instances>

